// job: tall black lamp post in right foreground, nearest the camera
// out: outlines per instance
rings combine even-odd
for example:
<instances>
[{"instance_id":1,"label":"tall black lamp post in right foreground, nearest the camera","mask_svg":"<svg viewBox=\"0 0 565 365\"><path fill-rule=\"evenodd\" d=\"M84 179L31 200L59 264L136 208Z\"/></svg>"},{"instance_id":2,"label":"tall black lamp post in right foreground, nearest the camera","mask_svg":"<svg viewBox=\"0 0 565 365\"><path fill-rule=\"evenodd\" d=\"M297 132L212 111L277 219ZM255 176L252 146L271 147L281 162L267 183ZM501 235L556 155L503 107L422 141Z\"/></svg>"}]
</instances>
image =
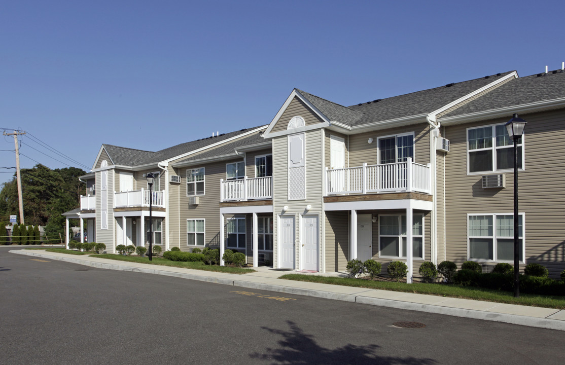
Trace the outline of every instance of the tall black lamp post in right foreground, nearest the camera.
<instances>
[{"instance_id":1,"label":"tall black lamp post in right foreground, nearest the camera","mask_svg":"<svg viewBox=\"0 0 565 365\"><path fill-rule=\"evenodd\" d=\"M524 133L526 121L514 114L506 124L510 139L514 143L514 297L520 297L520 247L518 245L518 140Z\"/></svg>"}]
</instances>

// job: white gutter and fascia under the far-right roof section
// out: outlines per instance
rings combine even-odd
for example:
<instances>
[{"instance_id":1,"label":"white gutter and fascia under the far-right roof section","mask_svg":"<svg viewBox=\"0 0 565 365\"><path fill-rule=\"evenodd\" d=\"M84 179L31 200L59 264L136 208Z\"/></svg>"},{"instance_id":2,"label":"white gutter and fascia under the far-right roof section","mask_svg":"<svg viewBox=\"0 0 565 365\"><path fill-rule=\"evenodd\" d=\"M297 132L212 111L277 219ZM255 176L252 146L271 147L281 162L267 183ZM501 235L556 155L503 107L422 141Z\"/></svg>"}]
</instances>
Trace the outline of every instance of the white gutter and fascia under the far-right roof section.
<instances>
[{"instance_id":1,"label":"white gutter and fascia under the far-right roof section","mask_svg":"<svg viewBox=\"0 0 565 365\"><path fill-rule=\"evenodd\" d=\"M441 124L443 125L451 125L451 124L465 123L468 121L509 116L514 113L520 114L526 112L535 112L546 108L557 109L560 107L565 107L565 98L551 99L551 100L545 100L545 101L533 102L533 103L527 103L527 104L515 105L515 106L507 106L498 109L491 109L491 110L479 111L470 114L447 117L445 119L440 118L440 120L441 120Z\"/></svg>"}]
</instances>

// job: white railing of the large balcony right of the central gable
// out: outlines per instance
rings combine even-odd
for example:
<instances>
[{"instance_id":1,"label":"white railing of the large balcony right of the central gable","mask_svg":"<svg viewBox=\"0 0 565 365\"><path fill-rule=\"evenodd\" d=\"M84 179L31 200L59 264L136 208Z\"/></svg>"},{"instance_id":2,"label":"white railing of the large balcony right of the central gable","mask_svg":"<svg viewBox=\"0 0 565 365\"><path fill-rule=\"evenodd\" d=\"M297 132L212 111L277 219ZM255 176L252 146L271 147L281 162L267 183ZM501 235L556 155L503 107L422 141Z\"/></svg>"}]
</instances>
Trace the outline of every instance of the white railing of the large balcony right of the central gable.
<instances>
[{"instance_id":1,"label":"white railing of the large balcony right of the central gable","mask_svg":"<svg viewBox=\"0 0 565 365\"><path fill-rule=\"evenodd\" d=\"M386 163L336 168L325 173L325 195L385 192L420 192L431 194L430 165L412 162Z\"/></svg>"}]
</instances>

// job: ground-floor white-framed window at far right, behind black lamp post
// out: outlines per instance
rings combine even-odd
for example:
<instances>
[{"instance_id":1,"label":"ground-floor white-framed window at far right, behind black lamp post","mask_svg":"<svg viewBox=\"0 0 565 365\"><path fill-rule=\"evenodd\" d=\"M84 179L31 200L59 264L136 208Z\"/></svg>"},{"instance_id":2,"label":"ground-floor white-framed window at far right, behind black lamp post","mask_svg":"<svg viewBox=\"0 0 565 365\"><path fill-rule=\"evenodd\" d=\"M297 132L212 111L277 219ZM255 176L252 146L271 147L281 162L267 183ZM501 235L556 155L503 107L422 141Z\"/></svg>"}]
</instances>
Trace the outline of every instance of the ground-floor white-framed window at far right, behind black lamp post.
<instances>
[{"instance_id":1,"label":"ground-floor white-framed window at far right, behind black lamp post","mask_svg":"<svg viewBox=\"0 0 565 365\"><path fill-rule=\"evenodd\" d=\"M470 260L514 261L514 214L469 214ZM519 259L524 262L524 214L518 216Z\"/></svg>"}]
</instances>

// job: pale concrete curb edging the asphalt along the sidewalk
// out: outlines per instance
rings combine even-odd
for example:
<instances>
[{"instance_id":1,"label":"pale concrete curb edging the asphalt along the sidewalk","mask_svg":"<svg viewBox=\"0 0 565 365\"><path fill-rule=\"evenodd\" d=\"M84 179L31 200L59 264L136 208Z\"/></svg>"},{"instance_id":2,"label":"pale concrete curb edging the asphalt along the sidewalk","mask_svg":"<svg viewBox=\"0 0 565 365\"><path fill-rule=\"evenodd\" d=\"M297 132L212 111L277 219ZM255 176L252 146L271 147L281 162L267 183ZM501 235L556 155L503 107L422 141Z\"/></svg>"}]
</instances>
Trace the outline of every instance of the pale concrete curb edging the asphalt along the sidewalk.
<instances>
[{"instance_id":1,"label":"pale concrete curb edging the asphalt along the sidewalk","mask_svg":"<svg viewBox=\"0 0 565 365\"><path fill-rule=\"evenodd\" d=\"M90 260L82 260L72 257L46 255L29 250L27 251L10 250L9 252L20 255L42 257L51 260L71 262L79 265L101 268L106 270L143 272L143 273L150 273L150 274L157 274L164 276L180 277L181 279L205 281L207 283L238 286L240 288L247 288L247 289L268 290L271 292L278 292L278 293L295 294L300 296L317 297L317 298L332 299L332 300L345 301L345 302L368 304L373 306L390 307L390 308L397 308L403 310L420 311L420 312L450 315L450 316L456 316L462 318L489 320L489 321L495 321L501 323L525 325L528 327L538 327L538 328L546 328L546 329L555 329L557 331L565 331L565 321L559 319L537 318L537 317L523 316L523 315L429 305L423 303L398 301L394 299L367 297L367 296L363 296L362 294L335 293L324 290L297 288L295 286L290 286L290 285L287 286L287 285L277 285L277 284L256 283L253 281L237 280L237 279L234 280L234 279L215 277L215 276L205 276L205 275L198 275L188 272L187 273L175 272L175 271L159 270L155 268L146 268L146 267L123 265L123 264L108 264L106 262L94 262ZM231 275L231 274L227 274L227 275Z\"/></svg>"}]
</instances>

